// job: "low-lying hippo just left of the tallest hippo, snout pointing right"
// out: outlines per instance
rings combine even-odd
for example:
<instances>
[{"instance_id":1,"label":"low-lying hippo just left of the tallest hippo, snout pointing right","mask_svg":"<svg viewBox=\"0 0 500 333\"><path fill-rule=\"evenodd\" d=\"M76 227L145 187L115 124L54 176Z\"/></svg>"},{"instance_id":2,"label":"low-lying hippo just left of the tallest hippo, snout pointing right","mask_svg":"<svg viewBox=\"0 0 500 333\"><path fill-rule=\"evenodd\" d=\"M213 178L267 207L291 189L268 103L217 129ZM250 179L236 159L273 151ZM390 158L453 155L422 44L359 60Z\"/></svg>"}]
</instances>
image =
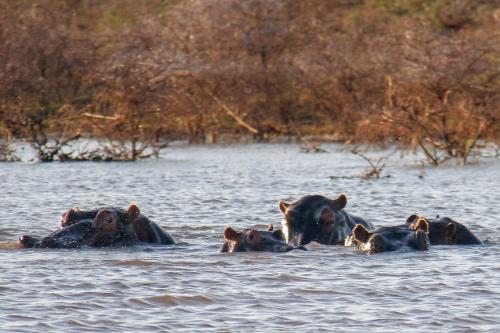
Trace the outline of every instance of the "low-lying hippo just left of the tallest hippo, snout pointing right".
<instances>
[{"instance_id":1,"label":"low-lying hippo just left of the tallest hippo, snout pointing right","mask_svg":"<svg viewBox=\"0 0 500 333\"><path fill-rule=\"evenodd\" d=\"M224 243L220 252L288 252L295 249L306 250L303 246L292 246L281 238L281 230L258 231L244 229L237 232L231 227L224 229Z\"/></svg>"}]
</instances>

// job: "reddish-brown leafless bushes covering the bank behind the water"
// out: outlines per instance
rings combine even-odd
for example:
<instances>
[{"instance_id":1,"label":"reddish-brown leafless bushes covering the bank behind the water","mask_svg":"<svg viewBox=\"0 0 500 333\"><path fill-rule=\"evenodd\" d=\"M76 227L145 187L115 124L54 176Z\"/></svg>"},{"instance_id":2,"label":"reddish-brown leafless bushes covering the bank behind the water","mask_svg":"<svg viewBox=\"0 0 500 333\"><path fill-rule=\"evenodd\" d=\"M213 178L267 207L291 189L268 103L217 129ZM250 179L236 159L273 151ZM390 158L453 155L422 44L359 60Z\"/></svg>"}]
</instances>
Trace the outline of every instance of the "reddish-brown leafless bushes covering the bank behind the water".
<instances>
[{"instance_id":1,"label":"reddish-brown leafless bushes covering the bank behind the water","mask_svg":"<svg viewBox=\"0 0 500 333\"><path fill-rule=\"evenodd\" d=\"M41 160L81 136L99 148L79 158L328 135L433 164L500 140L498 1L0 0L0 19L1 132Z\"/></svg>"}]
</instances>

